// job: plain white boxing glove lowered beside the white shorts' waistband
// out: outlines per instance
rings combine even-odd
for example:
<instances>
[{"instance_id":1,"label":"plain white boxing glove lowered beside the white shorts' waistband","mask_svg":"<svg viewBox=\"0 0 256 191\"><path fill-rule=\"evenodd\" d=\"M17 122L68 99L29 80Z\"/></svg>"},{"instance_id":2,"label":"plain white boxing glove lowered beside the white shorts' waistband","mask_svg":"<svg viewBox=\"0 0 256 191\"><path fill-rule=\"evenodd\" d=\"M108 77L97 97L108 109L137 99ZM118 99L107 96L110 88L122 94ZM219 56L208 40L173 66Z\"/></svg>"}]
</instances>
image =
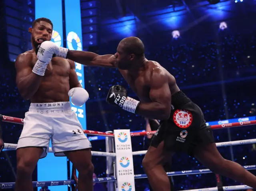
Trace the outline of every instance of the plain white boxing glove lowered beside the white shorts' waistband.
<instances>
[{"instance_id":1,"label":"plain white boxing glove lowered beside the white shorts' waistband","mask_svg":"<svg viewBox=\"0 0 256 191\"><path fill-rule=\"evenodd\" d=\"M84 105L89 99L89 94L84 88L72 88L69 90L68 96L71 97L71 102L77 106Z\"/></svg>"}]
</instances>

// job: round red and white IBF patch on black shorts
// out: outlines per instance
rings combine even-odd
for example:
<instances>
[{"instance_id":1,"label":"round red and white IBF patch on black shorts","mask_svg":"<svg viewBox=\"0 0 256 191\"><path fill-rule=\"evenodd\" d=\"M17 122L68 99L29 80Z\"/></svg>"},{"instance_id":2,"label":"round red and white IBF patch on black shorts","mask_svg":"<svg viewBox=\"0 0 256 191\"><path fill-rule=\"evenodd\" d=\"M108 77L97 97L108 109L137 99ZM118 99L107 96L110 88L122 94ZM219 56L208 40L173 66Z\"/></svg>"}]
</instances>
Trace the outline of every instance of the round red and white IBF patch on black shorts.
<instances>
[{"instance_id":1,"label":"round red and white IBF patch on black shorts","mask_svg":"<svg viewBox=\"0 0 256 191\"><path fill-rule=\"evenodd\" d=\"M177 109L173 114L174 123L180 128L188 128L192 121L192 113L186 109Z\"/></svg>"}]
</instances>

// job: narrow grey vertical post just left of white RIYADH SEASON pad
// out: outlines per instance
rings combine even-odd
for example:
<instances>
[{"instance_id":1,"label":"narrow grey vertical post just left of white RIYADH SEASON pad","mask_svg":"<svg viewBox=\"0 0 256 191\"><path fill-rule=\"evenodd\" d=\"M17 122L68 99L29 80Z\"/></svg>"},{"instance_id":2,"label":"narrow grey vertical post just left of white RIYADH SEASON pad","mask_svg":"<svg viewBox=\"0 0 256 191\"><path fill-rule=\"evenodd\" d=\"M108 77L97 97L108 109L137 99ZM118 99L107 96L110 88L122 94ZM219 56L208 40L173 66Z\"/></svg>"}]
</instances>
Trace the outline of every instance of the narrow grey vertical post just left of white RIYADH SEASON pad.
<instances>
[{"instance_id":1,"label":"narrow grey vertical post just left of white RIYADH SEASON pad","mask_svg":"<svg viewBox=\"0 0 256 191\"><path fill-rule=\"evenodd\" d=\"M113 131L106 131L106 133L114 133ZM106 152L114 153L114 137L106 137ZM114 173L115 160L113 157L106 157L106 175L107 177L115 176ZM115 182L108 182L108 191L116 191Z\"/></svg>"}]
</instances>

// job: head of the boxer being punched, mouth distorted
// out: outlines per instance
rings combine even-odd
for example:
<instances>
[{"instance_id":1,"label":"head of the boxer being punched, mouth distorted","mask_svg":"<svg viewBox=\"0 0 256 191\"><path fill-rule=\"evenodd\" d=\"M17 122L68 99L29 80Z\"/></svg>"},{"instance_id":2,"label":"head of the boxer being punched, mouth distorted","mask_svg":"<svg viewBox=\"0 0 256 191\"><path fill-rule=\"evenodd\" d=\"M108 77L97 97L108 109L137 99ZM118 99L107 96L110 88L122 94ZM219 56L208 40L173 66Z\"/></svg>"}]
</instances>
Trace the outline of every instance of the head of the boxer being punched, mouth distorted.
<instances>
[{"instance_id":1,"label":"head of the boxer being punched, mouth distorted","mask_svg":"<svg viewBox=\"0 0 256 191\"><path fill-rule=\"evenodd\" d=\"M33 24L32 28L28 29L31 33L31 43L36 47L44 41L49 41L52 38L53 24L48 18L38 18Z\"/></svg>"}]
</instances>

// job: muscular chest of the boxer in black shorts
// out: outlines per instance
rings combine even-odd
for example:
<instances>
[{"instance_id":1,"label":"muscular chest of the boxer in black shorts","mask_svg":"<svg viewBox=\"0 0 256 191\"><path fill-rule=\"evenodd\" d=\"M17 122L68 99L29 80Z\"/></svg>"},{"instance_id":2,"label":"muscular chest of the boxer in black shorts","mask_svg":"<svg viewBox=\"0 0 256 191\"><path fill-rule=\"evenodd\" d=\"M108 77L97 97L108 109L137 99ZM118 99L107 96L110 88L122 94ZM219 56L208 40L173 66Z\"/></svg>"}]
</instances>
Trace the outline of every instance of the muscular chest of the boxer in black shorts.
<instances>
[{"instance_id":1,"label":"muscular chest of the boxer in black shorts","mask_svg":"<svg viewBox=\"0 0 256 191\"><path fill-rule=\"evenodd\" d=\"M149 102L149 91L147 80L144 75L138 76L137 78L133 78L128 76L125 72L121 72L126 82L129 84L130 88L134 91L134 93L140 98L142 102Z\"/></svg>"}]
</instances>

